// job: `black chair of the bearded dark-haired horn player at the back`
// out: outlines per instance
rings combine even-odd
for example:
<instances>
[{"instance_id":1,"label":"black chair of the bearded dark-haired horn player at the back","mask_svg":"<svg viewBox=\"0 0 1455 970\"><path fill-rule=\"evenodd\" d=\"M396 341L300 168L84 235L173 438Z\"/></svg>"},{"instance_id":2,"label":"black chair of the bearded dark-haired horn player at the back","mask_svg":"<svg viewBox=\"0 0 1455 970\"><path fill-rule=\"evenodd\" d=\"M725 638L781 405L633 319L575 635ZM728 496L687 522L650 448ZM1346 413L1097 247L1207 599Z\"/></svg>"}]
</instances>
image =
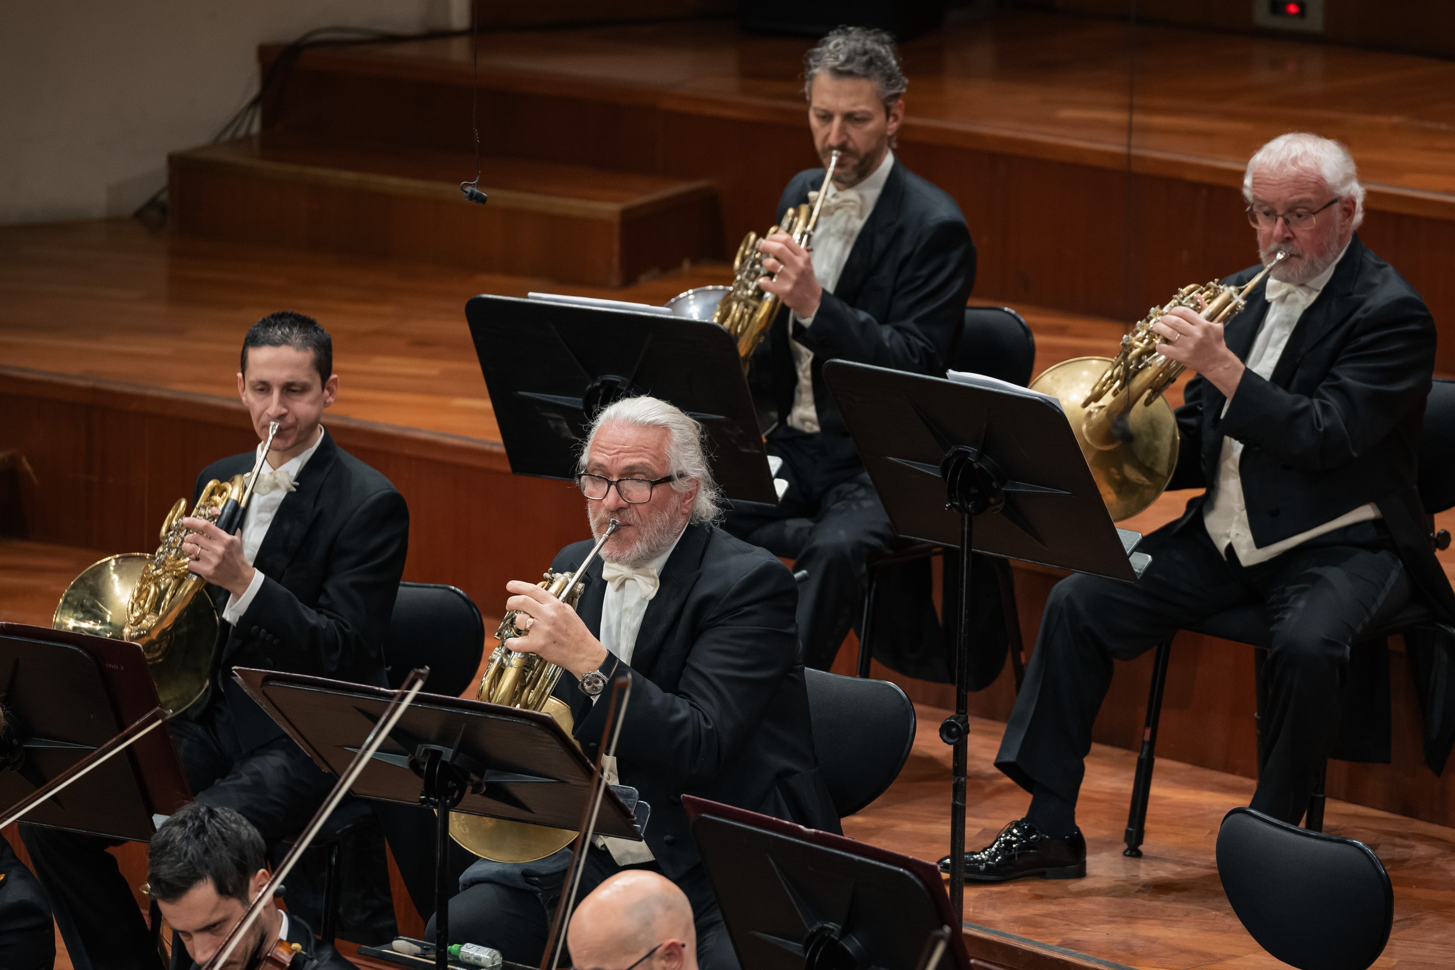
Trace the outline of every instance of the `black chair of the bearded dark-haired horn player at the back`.
<instances>
[{"instance_id":1,"label":"black chair of the bearded dark-haired horn player at the back","mask_svg":"<svg viewBox=\"0 0 1455 970\"><path fill-rule=\"evenodd\" d=\"M985 377L1026 387L1030 384L1035 366L1036 336L1018 313L1010 307L965 308L965 326L960 329L960 340L950 353L952 371L984 374ZM870 633L874 615L874 595L883 570L931 556L943 557L944 554L946 550L933 542L911 542L869 561L869 589L864 596L864 615L858 625L858 676L869 676L869 660L873 656ZM957 556L959 550L950 550L950 554ZM1001 611L1005 615L1007 650L1010 653L1011 670L1016 675L1016 689L1020 691L1020 682L1026 672L1021 660L1020 617L1016 614L1016 580L1010 572L1008 560L991 557L989 561L995 567L995 580L1000 585ZM946 617L943 625L947 638L953 641L957 618Z\"/></svg>"}]
</instances>

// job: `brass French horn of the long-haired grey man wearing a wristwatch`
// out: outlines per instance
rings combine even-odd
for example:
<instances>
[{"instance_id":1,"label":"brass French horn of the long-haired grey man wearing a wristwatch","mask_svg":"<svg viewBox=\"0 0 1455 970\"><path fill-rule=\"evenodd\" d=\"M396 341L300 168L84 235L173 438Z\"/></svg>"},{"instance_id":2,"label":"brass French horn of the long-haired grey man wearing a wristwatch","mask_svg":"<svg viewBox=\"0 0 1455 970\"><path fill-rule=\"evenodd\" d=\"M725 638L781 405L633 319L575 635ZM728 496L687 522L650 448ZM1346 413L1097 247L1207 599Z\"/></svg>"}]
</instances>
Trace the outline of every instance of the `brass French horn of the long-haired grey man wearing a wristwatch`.
<instances>
[{"instance_id":1,"label":"brass French horn of the long-haired grey man wearing a wristwatch","mask_svg":"<svg viewBox=\"0 0 1455 970\"><path fill-rule=\"evenodd\" d=\"M562 601L572 609L581 599L581 579L586 574L586 567L620 528L620 522L611 519L607 531L597 540L591 553L581 561L573 573L547 572L537 583L547 593ZM511 650L511 640L524 637L525 630L517 625L521 614L511 609L501 620L495 631L498 644L490 654L490 662L480 678L480 689L476 697L487 704L503 704L527 711L543 711L556 718L556 723L570 734L576 723L570 716L570 707L551 695L556 682L560 681L562 668L547 663L537 653L517 653ZM476 855L496 862L533 862L553 855L576 839L570 829L553 829L528 822L512 822L509 819L487 819L485 816L453 813L450 816L450 836Z\"/></svg>"}]
</instances>

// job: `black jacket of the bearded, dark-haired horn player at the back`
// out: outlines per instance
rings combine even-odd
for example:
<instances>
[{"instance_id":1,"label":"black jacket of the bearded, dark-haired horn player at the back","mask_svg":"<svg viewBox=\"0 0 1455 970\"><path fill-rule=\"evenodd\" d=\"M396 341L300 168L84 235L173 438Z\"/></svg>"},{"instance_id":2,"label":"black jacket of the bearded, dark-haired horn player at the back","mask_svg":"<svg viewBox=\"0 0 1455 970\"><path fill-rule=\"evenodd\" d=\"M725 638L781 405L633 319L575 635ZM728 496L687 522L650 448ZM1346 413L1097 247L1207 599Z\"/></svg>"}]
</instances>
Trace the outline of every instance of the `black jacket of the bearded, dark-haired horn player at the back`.
<instances>
[{"instance_id":1,"label":"black jacket of the bearded, dark-haired horn player at the back","mask_svg":"<svg viewBox=\"0 0 1455 970\"><path fill-rule=\"evenodd\" d=\"M824 183L824 169L793 176L778 201L778 220L809 201ZM845 462L857 451L834 394L824 382L824 362L857 361L934 374L944 369L965 324L965 301L975 286L975 243L960 207L895 160L874 211L854 240L834 292L825 292L813 324L793 323L793 339L813 350L813 406L819 429L831 435ZM797 369L789 346L790 314L774 321L755 366L767 371L777 419L793 410Z\"/></svg>"}]
</instances>

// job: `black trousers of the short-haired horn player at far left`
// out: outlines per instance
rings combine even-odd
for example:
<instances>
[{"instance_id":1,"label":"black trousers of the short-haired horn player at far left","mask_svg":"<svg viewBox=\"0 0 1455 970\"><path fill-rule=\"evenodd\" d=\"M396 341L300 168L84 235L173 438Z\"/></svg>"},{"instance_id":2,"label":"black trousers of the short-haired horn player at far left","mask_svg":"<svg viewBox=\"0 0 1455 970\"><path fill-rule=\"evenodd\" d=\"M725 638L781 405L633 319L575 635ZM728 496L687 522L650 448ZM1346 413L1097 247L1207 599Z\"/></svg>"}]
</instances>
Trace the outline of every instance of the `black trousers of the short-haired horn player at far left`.
<instances>
[{"instance_id":1,"label":"black trousers of the short-haired horn player at far left","mask_svg":"<svg viewBox=\"0 0 1455 970\"><path fill-rule=\"evenodd\" d=\"M236 809L269 846L308 823L335 778L291 737L244 752L221 705L196 721L175 720L172 736L196 800ZM132 887L106 848L112 839L20 826L35 874L51 897L55 922L76 970L157 970L162 966Z\"/></svg>"}]
</instances>

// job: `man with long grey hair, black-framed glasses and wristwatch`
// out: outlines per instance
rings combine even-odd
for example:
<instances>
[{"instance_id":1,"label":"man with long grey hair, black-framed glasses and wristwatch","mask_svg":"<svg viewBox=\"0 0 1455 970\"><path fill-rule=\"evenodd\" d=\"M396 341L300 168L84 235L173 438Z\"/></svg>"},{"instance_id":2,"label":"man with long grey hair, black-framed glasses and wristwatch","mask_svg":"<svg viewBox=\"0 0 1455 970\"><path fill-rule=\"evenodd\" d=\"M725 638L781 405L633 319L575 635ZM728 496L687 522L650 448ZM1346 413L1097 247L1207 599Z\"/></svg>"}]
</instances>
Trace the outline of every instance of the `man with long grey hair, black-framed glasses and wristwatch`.
<instances>
[{"instance_id":1,"label":"man with long grey hair, black-framed glasses and wristwatch","mask_svg":"<svg viewBox=\"0 0 1455 970\"><path fill-rule=\"evenodd\" d=\"M661 873L691 903L701 966L736 967L682 794L838 830L813 756L793 576L713 524L719 490L703 429L666 401L633 397L602 410L578 483L595 537L620 522L586 569L578 609L528 582L506 586L505 608L521 611L525 630L511 649L565 669L556 695L570 704L588 756L605 727L608 705L597 700L613 678L631 678L607 775L650 806L646 841L597 839L582 891L624 868ZM591 547L567 545L551 569L575 570ZM471 867L450 902L451 941L540 963L567 855Z\"/></svg>"}]
</instances>

